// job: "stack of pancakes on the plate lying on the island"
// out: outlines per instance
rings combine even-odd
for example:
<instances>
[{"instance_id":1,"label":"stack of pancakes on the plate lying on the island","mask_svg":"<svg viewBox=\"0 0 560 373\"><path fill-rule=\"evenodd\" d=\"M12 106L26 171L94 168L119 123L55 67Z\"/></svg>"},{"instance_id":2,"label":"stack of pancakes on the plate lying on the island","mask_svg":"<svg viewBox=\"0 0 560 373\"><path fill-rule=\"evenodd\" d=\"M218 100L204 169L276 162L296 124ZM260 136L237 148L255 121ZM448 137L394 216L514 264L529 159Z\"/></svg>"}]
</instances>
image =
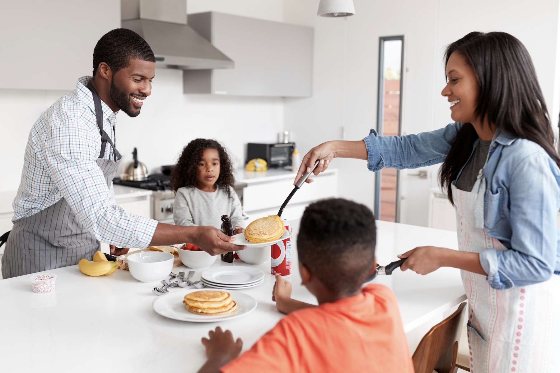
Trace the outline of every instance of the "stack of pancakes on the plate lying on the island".
<instances>
[{"instance_id":1,"label":"stack of pancakes on the plate lying on the island","mask_svg":"<svg viewBox=\"0 0 560 373\"><path fill-rule=\"evenodd\" d=\"M237 309L231 295L225 291L202 290L185 295L186 309L199 315L225 315Z\"/></svg>"}]
</instances>

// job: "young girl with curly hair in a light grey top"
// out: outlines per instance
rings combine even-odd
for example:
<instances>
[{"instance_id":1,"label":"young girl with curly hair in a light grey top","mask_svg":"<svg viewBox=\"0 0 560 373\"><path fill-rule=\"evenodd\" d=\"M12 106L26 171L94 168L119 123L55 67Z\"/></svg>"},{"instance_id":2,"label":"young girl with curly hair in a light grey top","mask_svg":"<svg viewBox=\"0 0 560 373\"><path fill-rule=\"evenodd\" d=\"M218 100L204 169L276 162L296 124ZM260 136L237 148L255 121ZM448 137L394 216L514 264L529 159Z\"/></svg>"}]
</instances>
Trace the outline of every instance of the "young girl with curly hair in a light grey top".
<instances>
[{"instance_id":1,"label":"young girl with curly hair in a light grey top","mask_svg":"<svg viewBox=\"0 0 560 373\"><path fill-rule=\"evenodd\" d=\"M234 234L245 232L233 171L226 149L218 141L190 141L171 172L171 190L176 193L175 224L211 225L221 229L221 216L229 215Z\"/></svg>"}]
</instances>

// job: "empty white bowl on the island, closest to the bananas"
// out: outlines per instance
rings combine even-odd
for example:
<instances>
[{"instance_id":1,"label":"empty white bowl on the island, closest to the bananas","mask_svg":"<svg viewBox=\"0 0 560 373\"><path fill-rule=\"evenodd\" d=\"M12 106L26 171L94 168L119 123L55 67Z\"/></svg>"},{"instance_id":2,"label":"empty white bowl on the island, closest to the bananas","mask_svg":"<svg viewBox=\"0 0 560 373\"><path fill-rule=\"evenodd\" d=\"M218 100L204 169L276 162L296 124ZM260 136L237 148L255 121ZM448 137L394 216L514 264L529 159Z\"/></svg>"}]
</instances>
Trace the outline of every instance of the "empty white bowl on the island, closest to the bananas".
<instances>
[{"instance_id":1,"label":"empty white bowl on the island, closest to the bananas","mask_svg":"<svg viewBox=\"0 0 560 373\"><path fill-rule=\"evenodd\" d=\"M128 270L138 281L158 282L169 277L173 259L173 254L160 251L136 253L127 257Z\"/></svg>"}]
</instances>

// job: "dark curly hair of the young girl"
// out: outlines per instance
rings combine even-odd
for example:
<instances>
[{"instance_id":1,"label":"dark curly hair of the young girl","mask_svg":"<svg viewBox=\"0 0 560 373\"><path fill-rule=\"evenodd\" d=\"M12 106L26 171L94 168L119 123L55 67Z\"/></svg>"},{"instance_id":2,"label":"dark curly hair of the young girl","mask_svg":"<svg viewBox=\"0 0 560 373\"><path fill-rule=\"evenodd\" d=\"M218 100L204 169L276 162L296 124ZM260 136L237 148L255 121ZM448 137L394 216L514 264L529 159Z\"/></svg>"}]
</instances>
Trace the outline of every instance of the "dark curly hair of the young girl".
<instances>
[{"instance_id":1,"label":"dark curly hair of the young girl","mask_svg":"<svg viewBox=\"0 0 560 373\"><path fill-rule=\"evenodd\" d=\"M183 149L177 164L171 171L170 181L171 190L177 192L181 187L195 186L198 179L198 162L206 149L216 149L220 155L220 176L216 180L216 185L227 193L231 198L230 186L235 183L234 167L230 156L218 141L209 139L195 139Z\"/></svg>"}]
</instances>

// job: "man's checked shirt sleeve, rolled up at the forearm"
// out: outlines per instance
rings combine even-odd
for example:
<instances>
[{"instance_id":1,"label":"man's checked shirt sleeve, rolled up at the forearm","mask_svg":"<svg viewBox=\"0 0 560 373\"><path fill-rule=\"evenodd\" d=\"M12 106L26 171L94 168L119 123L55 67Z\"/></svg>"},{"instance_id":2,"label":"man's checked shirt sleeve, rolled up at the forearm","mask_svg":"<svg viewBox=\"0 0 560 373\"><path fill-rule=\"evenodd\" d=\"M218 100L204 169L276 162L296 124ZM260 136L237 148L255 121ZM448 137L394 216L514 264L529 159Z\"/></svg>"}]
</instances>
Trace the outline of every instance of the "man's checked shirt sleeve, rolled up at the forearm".
<instances>
[{"instance_id":1,"label":"man's checked shirt sleeve, rolled up at the forearm","mask_svg":"<svg viewBox=\"0 0 560 373\"><path fill-rule=\"evenodd\" d=\"M96 133L67 116L45 135L39 152L49 175L87 230L101 242L119 247L147 247L157 221L128 214L116 205L96 163L100 142Z\"/></svg>"}]
</instances>

